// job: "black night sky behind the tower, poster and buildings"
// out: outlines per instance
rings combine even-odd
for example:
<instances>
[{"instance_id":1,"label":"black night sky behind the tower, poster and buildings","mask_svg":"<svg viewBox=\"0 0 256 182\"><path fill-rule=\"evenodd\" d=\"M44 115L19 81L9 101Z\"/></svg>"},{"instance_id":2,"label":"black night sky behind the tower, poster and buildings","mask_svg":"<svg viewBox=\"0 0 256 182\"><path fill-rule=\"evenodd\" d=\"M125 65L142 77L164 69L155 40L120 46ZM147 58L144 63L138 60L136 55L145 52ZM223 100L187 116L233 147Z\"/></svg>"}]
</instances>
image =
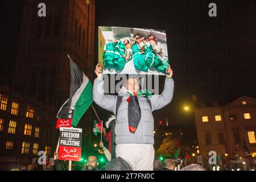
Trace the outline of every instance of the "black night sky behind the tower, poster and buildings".
<instances>
[{"instance_id":1,"label":"black night sky behind the tower, poster and buildings","mask_svg":"<svg viewBox=\"0 0 256 182\"><path fill-rule=\"evenodd\" d=\"M217 4L217 17L208 16L210 2ZM21 10L22 1L1 5L1 82L11 79ZM207 103L256 98L255 1L101 0L96 2L96 26L167 31L175 93L155 119L168 115L172 124L186 124L181 107L193 94Z\"/></svg>"}]
</instances>

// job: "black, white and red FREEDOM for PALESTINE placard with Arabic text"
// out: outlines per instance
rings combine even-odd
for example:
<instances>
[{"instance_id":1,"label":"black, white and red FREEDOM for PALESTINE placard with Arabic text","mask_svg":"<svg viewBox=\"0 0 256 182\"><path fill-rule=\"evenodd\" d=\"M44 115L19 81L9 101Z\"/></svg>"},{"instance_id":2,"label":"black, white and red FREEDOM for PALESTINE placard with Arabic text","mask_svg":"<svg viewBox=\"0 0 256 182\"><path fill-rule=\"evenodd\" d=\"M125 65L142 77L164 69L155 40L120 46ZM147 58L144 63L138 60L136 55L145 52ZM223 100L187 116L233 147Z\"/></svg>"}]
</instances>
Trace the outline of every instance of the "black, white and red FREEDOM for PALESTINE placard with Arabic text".
<instances>
[{"instance_id":1,"label":"black, white and red FREEDOM for PALESTINE placard with Arabic text","mask_svg":"<svg viewBox=\"0 0 256 182\"><path fill-rule=\"evenodd\" d=\"M82 129L60 127L59 160L80 161Z\"/></svg>"}]
</instances>

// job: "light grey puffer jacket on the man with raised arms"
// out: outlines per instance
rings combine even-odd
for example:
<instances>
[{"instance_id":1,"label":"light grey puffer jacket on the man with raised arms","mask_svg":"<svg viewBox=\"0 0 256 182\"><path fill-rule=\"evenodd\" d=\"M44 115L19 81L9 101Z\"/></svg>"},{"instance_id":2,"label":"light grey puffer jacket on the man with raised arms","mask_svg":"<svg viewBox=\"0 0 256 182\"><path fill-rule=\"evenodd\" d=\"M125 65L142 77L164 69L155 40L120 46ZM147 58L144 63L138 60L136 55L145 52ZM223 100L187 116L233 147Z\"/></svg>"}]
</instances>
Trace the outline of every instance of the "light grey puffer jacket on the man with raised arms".
<instances>
[{"instance_id":1,"label":"light grey puffer jacket on the man with raised arms","mask_svg":"<svg viewBox=\"0 0 256 182\"><path fill-rule=\"evenodd\" d=\"M152 111L161 109L169 104L174 94L174 80L167 78L164 82L164 90L160 95L153 95L150 98L151 107L148 104L146 97L139 96L139 106L141 107L141 121L135 133L130 133L128 125L128 102L129 97L127 90L122 87L118 96L122 96L122 101L115 114L115 105L117 103L117 96L108 95L104 93L103 78L96 78L93 84L93 101L100 107L112 111L117 122L115 123L115 143L148 143L154 144L154 118Z\"/></svg>"}]
</instances>

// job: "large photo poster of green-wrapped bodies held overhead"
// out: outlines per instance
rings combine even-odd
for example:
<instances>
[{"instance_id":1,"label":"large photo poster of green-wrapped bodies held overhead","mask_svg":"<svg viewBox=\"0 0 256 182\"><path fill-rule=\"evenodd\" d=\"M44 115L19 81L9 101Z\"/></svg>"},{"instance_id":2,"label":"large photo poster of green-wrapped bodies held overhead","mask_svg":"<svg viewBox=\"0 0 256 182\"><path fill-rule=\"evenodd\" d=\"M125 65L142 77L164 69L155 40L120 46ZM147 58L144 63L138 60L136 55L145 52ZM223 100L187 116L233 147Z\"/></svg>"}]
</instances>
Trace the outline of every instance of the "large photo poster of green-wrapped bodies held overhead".
<instances>
[{"instance_id":1,"label":"large photo poster of green-wrapped bodies held overhead","mask_svg":"<svg viewBox=\"0 0 256 182\"><path fill-rule=\"evenodd\" d=\"M103 73L167 74L169 61L164 31L130 27L100 27L99 31L105 40L101 51Z\"/></svg>"}]
</instances>

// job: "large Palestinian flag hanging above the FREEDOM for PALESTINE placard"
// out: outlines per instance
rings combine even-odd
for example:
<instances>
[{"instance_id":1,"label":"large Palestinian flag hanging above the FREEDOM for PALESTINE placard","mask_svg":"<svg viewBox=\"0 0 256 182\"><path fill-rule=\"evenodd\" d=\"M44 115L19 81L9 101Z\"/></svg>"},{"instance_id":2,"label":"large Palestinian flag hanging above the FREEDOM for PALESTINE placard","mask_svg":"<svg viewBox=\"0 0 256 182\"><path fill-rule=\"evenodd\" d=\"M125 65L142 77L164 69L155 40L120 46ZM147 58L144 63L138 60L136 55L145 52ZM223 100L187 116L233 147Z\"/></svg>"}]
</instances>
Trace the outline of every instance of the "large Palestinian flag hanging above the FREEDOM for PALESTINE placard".
<instances>
[{"instance_id":1,"label":"large Palestinian flag hanging above the FREEDOM for PALESTINE placard","mask_svg":"<svg viewBox=\"0 0 256 182\"><path fill-rule=\"evenodd\" d=\"M57 118L68 119L69 110L73 110L72 126L76 127L82 115L92 105L93 84L70 57L69 61L71 71L69 99L60 107Z\"/></svg>"}]
</instances>

